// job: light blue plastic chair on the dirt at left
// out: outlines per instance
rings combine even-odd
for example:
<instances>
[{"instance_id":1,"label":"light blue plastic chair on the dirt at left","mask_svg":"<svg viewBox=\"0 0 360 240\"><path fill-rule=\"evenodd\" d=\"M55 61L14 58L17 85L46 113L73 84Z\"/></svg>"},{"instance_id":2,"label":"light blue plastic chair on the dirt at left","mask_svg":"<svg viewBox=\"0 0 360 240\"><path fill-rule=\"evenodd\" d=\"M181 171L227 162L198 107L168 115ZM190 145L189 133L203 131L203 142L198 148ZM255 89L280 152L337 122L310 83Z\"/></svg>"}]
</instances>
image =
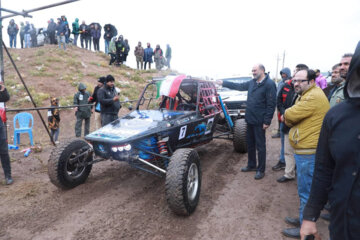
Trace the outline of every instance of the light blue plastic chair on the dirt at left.
<instances>
[{"instance_id":1,"label":"light blue plastic chair on the dirt at left","mask_svg":"<svg viewBox=\"0 0 360 240\"><path fill-rule=\"evenodd\" d=\"M19 123L17 127L16 123ZM22 112L18 113L14 117L14 145L20 144L20 134L28 133L31 146L34 146L32 128L34 126L34 118L30 113Z\"/></svg>"}]
</instances>

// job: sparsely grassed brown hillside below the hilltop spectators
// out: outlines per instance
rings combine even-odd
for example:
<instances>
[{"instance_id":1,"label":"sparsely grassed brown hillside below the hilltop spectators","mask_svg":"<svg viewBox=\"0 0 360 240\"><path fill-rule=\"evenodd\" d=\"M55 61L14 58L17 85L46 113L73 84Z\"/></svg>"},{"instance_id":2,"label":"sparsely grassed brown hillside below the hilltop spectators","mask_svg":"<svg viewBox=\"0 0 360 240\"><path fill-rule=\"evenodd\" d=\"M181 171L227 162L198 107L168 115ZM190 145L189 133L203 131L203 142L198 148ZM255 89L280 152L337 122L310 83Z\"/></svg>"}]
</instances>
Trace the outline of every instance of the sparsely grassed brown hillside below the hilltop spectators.
<instances>
[{"instance_id":1,"label":"sparsely grassed brown hillside below the hilltop spectators","mask_svg":"<svg viewBox=\"0 0 360 240\"><path fill-rule=\"evenodd\" d=\"M87 90L92 92L100 76L111 74L115 77L115 85L121 90L121 100L127 97L137 99L146 82L152 77L163 76L168 71L157 70L139 71L126 66L109 66L109 56L102 52L91 52L78 47L69 46L66 51L59 50L56 45L46 45L39 48L9 49L26 85L28 86L37 106L50 105L50 97L60 99L61 106L72 105L73 96L77 92L80 82L85 83ZM32 103L20 81L10 59L4 51L5 84L11 95L7 108L32 107ZM123 107L120 114L126 114L127 108ZM37 144L50 143L36 111L31 111L34 116L34 140ZM12 119L15 113L10 112L8 117L9 142L13 140ZM46 111L41 111L47 123ZM92 120L94 120L92 118ZM91 130L94 130L94 121ZM69 110L61 111L60 141L62 138L75 136L75 116ZM23 137L28 143L28 138Z\"/></svg>"}]
</instances>

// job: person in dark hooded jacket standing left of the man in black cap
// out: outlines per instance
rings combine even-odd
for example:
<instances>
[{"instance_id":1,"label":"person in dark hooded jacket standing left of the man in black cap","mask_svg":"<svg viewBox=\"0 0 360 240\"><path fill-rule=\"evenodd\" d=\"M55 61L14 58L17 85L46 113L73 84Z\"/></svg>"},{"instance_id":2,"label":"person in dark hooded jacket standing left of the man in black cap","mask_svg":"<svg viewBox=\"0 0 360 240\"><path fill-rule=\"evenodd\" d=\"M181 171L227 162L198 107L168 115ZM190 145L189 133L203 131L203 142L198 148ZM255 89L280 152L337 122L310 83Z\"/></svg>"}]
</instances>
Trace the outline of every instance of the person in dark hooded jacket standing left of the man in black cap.
<instances>
[{"instance_id":1,"label":"person in dark hooded jacket standing left of the man in black cap","mask_svg":"<svg viewBox=\"0 0 360 240\"><path fill-rule=\"evenodd\" d=\"M74 95L74 105L85 105L89 103L90 93L86 91L86 85L79 84L78 92ZM75 107L75 136L81 137L82 122L85 121L84 136L90 132L91 106Z\"/></svg>"}]
</instances>

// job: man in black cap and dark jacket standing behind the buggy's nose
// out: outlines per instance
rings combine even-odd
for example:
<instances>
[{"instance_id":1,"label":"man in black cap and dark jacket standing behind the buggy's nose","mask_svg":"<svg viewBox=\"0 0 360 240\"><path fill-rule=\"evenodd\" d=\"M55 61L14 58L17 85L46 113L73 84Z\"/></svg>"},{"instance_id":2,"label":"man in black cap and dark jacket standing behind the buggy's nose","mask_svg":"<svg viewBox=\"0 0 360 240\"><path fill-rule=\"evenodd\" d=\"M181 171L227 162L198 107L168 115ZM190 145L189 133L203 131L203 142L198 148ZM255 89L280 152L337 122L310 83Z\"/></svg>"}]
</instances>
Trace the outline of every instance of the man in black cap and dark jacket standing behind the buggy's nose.
<instances>
[{"instance_id":1,"label":"man in black cap and dark jacket standing behind the buggy's nose","mask_svg":"<svg viewBox=\"0 0 360 240\"><path fill-rule=\"evenodd\" d=\"M107 75L104 86L98 90L97 100L100 102L101 108L101 126L105 126L118 119L121 105L114 82L114 77Z\"/></svg>"}]
</instances>

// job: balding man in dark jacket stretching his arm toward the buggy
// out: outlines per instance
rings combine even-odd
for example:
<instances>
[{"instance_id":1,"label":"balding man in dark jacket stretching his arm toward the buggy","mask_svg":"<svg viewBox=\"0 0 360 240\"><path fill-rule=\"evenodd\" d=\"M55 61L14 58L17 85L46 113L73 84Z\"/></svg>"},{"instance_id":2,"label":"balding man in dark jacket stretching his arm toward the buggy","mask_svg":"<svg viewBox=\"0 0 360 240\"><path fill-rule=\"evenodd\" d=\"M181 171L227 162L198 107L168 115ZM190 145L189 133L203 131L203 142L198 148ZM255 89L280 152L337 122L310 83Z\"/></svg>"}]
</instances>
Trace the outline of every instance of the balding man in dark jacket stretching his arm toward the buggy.
<instances>
[{"instance_id":1,"label":"balding man in dark jacket stretching his arm toward the buggy","mask_svg":"<svg viewBox=\"0 0 360 240\"><path fill-rule=\"evenodd\" d=\"M246 141L248 145L248 164L242 172L256 171L255 179L265 176L266 142L265 130L270 126L276 106L276 85L265 67L257 64L252 68L254 79L245 83L222 82L218 84L239 91L248 90L245 121L247 123ZM258 151L258 166L256 166L256 150Z\"/></svg>"}]
</instances>

